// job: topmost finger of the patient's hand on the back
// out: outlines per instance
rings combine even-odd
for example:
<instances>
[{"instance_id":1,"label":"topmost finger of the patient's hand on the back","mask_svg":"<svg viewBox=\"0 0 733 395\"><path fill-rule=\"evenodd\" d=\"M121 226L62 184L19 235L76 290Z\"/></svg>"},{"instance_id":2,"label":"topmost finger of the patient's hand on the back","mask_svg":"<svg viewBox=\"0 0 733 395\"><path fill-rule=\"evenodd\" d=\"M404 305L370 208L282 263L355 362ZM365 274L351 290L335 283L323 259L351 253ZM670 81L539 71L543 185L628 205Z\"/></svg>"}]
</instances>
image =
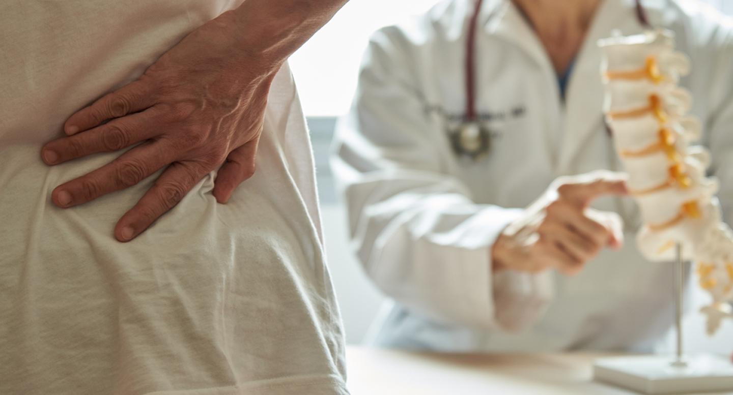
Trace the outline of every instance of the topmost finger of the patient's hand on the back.
<instances>
[{"instance_id":1,"label":"topmost finger of the patient's hand on the back","mask_svg":"<svg viewBox=\"0 0 733 395\"><path fill-rule=\"evenodd\" d=\"M97 127L104 121L144 110L155 104L152 93L153 87L147 78L128 83L70 116L64 124L64 132L74 135Z\"/></svg>"}]
</instances>

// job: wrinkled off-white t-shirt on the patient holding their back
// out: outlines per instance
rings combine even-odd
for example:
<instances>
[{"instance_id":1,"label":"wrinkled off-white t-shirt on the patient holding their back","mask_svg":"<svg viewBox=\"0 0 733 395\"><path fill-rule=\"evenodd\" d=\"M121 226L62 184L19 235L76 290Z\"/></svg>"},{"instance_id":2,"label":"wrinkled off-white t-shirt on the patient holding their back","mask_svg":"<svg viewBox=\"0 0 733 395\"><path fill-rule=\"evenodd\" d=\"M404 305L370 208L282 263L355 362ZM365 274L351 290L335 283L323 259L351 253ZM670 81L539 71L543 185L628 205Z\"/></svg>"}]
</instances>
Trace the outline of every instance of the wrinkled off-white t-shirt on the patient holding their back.
<instances>
[{"instance_id":1,"label":"wrinkled off-white t-shirt on the patient holding their back","mask_svg":"<svg viewBox=\"0 0 733 395\"><path fill-rule=\"evenodd\" d=\"M70 209L51 191L110 162L48 167L76 110L241 2L0 5L0 394L347 394L298 95L277 75L257 173L226 205L205 177L128 244L117 219L155 180Z\"/></svg>"}]
</instances>

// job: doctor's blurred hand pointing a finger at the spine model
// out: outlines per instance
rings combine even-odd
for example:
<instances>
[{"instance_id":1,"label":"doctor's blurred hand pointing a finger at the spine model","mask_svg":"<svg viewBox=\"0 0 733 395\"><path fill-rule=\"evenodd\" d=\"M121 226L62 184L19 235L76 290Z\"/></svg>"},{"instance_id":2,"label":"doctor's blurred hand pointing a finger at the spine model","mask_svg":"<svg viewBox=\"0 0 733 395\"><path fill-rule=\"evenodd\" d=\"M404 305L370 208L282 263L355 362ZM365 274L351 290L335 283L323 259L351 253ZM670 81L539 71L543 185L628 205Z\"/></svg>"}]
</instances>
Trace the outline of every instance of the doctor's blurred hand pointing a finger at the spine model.
<instances>
[{"instance_id":1,"label":"doctor's blurred hand pointing a finger at the spine model","mask_svg":"<svg viewBox=\"0 0 733 395\"><path fill-rule=\"evenodd\" d=\"M622 174L607 171L557 178L497 238L491 249L493 270L537 273L556 268L574 275L601 249L619 249L621 217L589 204L604 195L626 195L624 180Z\"/></svg>"}]
</instances>

